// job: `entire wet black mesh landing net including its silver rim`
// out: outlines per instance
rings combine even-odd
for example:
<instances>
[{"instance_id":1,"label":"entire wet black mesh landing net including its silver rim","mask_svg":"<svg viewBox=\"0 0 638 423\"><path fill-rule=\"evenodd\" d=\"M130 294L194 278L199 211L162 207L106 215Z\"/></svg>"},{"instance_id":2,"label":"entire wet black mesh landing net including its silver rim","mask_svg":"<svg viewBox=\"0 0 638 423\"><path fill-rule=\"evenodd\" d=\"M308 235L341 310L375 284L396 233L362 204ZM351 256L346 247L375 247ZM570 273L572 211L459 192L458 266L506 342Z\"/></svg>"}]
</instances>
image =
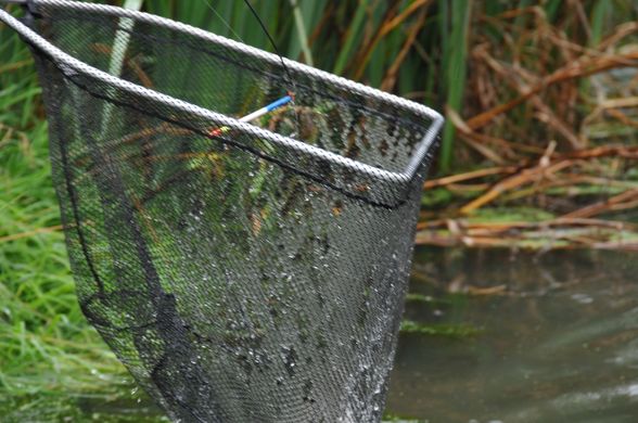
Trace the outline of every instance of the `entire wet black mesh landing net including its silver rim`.
<instances>
[{"instance_id":1,"label":"entire wet black mesh landing net including its silver rim","mask_svg":"<svg viewBox=\"0 0 638 423\"><path fill-rule=\"evenodd\" d=\"M441 116L153 15L28 9L0 20L79 303L140 385L176 421L379 421Z\"/></svg>"}]
</instances>

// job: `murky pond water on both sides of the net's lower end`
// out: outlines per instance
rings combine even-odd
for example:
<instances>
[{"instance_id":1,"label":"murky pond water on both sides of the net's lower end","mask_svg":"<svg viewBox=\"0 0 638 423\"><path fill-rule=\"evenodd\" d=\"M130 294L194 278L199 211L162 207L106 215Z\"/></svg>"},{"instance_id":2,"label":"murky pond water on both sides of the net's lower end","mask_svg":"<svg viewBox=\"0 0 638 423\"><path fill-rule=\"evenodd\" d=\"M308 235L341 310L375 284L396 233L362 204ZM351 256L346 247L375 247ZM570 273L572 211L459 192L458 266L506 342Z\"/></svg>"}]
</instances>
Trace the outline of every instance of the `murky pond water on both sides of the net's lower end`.
<instances>
[{"instance_id":1,"label":"murky pond water on both sides of the net's lower end","mask_svg":"<svg viewBox=\"0 0 638 423\"><path fill-rule=\"evenodd\" d=\"M401 333L387 419L637 421L637 273L625 253L417 251L405 318L437 334ZM69 398L59 415L51 421L166 422L129 392Z\"/></svg>"}]
</instances>

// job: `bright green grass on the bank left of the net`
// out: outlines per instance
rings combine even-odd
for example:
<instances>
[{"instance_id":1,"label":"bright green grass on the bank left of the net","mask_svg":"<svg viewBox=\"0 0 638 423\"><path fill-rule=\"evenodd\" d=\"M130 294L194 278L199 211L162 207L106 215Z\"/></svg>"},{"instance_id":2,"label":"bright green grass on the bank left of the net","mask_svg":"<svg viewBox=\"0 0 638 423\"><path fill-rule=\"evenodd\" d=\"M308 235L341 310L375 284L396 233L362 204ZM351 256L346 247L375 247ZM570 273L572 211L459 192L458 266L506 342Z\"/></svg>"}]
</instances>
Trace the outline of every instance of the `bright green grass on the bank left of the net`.
<instances>
[{"instance_id":1,"label":"bright green grass on the bank left of the net","mask_svg":"<svg viewBox=\"0 0 638 423\"><path fill-rule=\"evenodd\" d=\"M59 396L114 396L131 384L79 310L47 139L42 120L29 121L24 131L0 128L2 415Z\"/></svg>"}]
</instances>

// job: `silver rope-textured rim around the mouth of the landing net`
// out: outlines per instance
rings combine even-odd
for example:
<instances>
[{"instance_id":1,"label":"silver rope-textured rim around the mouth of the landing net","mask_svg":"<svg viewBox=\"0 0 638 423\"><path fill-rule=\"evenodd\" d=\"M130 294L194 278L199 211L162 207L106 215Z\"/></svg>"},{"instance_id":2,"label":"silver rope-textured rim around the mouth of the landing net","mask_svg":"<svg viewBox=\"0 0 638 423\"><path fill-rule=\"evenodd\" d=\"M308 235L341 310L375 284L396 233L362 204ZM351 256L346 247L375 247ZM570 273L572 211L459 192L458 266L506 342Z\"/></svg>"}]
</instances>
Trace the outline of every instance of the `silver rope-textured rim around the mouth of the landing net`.
<instances>
[{"instance_id":1,"label":"silver rope-textured rim around the mouth of the landing net","mask_svg":"<svg viewBox=\"0 0 638 423\"><path fill-rule=\"evenodd\" d=\"M36 13L38 11L39 5L46 5L54 8L68 8L73 10L93 13L102 13L116 17L132 18L135 21L158 25L171 30L181 31L187 35L194 36L205 42L218 43L225 48L235 50L243 54L253 55L255 59L264 60L271 64L281 63L281 59L276 54L233 41L231 39L208 33L206 30L196 28L188 24L175 22L145 12L137 12L107 4L85 3L71 0L33 0L31 4L35 7L34 9ZM394 107L410 111L413 114L422 116L424 119L431 121L431 125L426 129L423 139L414 149L414 153L410 157L410 161L408 165L405 167L405 169L403 171L385 170L365 163L357 162L349 157L344 157L330 151L326 151L321 148L307 144L303 141L295 140L289 137L283 137L276 132L271 132L267 129L263 129L251 124L242 123L237 118L213 112L210 110L197 106L192 103L188 103L183 100L174 98L171 95L167 95L154 91L152 89L145 88L143 86L115 77L106 72L103 72L97 67L90 66L75 59L68 53L65 53L64 51L52 44L50 41L44 39L42 36L37 34L35 30L33 30L27 25L23 24L21 21L18 21L9 12L2 9L0 9L0 22L3 22L9 27L13 28L28 43L30 43L33 47L37 48L47 56L49 56L61 70L68 73L69 75L80 74L90 78L95 78L101 82L114 86L130 94L141 95L148 100L169 105L171 107L180 108L182 111L196 115L197 117L201 117L203 119L216 121L220 125L228 126L231 129L240 130L253 137L265 139L284 149L290 149L297 153L314 156L321 161L327 161L332 166L337 166L347 171L359 174L368 178L381 180L386 183L398 183L400 185L405 185L414 178L414 176L421 167L421 164L428 158L431 150L435 148L438 131L441 130L441 127L444 123L444 118L439 113L425 105L421 105L419 103L401 99L394 94L386 93L381 90L365 86L362 84L355 82L346 78L305 65L303 63L283 57L285 66L294 72L309 74L314 77L321 78L330 84L337 86L339 88L350 90L352 92L357 94L371 97L377 101L386 103Z\"/></svg>"}]
</instances>

